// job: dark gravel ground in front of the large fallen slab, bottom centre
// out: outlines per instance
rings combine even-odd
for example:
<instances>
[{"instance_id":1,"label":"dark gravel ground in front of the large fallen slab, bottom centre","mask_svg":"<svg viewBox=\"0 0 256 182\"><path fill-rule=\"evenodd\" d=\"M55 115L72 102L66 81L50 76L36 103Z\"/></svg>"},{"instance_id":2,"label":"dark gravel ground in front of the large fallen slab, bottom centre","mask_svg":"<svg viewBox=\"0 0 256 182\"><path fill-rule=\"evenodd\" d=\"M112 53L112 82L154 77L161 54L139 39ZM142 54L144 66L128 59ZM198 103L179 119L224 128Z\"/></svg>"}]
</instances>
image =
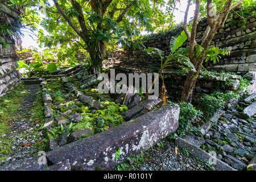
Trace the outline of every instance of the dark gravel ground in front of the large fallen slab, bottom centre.
<instances>
[{"instance_id":1,"label":"dark gravel ground in front of the large fallen slab, bottom centre","mask_svg":"<svg viewBox=\"0 0 256 182\"><path fill-rule=\"evenodd\" d=\"M144 154L131 156L127 163L120 164L115 170L127 171L208 171L209 164L201 162L188 151L176 149L169 139L162 139Z\"/></svg>"}]
</instances>

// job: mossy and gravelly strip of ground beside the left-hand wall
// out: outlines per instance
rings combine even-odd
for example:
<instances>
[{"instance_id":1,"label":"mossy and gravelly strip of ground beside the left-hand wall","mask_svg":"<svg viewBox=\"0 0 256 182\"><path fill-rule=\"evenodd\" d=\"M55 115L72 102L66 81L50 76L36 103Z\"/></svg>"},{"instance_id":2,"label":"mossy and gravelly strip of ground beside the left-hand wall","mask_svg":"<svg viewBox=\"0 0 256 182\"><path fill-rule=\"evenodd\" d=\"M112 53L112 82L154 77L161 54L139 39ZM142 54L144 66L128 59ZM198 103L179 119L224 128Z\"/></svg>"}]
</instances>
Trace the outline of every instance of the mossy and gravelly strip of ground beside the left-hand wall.
<instances>
[{"instance_id":1,"label":"mossy and gravelly strip of ground beside the left-hand wall","mask_svg":"<svg viewBox=\"0 0 256 182\"><path fill-rule=\"evenodd\" d=\"M19 85L0 100L0 166L30 158L47 143L40 131L44 123L39 85Z\"/></svg>"}]
</instances>

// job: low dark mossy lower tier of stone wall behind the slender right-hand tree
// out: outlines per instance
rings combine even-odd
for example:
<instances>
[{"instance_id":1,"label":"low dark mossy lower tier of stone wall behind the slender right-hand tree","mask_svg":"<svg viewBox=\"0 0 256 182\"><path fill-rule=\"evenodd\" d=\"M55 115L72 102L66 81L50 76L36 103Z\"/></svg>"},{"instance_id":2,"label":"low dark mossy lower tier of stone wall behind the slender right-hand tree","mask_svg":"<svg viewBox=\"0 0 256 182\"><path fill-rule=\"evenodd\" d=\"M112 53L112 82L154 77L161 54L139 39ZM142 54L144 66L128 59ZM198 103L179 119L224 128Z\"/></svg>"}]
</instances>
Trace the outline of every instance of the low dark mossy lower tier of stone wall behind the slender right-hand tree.
<instances>
[{"instance_id":1,"label":"low dark mossy lower tier of stone wall behind the slender right-hand tree","mask_svg":"<svg viewBox=\"0 0 256 182\"><path fill-rule=\"evenodd\" d=\"M141 74L141 71L127 67L114 67L115 74L125 73L128 76L129 73ZM186 79L185 73L179 73L174 71L164 72L164 85L166 86L168 96L171 101L179 101L183 90L183 85ZM253 79L249 78L248 79ZM255 78L254 78L255 79ZM198 98L203 94L210 94L214 92L238 92L240 86L240 75L223 74L223 73L210 73L200 75L197 78L196 88L193 90L192 103L195 103ZM162 86L162 79L159 78L159 87ZM148 87L148 85L147 85ZM240 93L245 92L246 89L240 90Z\"/></svg>"}]
</instances>

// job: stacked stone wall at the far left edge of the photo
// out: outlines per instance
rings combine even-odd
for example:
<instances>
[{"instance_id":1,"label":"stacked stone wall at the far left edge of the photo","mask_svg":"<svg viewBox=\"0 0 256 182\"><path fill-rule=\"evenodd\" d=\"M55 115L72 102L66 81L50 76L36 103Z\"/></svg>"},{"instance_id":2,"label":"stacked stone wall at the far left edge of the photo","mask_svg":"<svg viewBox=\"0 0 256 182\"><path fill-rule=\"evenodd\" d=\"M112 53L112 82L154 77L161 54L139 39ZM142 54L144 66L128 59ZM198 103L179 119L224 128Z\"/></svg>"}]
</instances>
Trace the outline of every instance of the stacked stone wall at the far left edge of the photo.
<instances>
[{"instance_id":1,"label":"stacked stone wall at the far left edge of the photo","mask_svg":"<svg viewBox=\"0 0 256 182\"><path fill-rule=\"evenodd\" d=\"M2 4L0 4L0 17L0 24L8 22L16 25L19 23L17 22L18 14ZM19 57L16 55L14 39L5 36L2 40L11 44L9 46L0 44L0 97L20 81L19 71L16 71L19 67L16 62Z\"/></svg>"}]
</instances>

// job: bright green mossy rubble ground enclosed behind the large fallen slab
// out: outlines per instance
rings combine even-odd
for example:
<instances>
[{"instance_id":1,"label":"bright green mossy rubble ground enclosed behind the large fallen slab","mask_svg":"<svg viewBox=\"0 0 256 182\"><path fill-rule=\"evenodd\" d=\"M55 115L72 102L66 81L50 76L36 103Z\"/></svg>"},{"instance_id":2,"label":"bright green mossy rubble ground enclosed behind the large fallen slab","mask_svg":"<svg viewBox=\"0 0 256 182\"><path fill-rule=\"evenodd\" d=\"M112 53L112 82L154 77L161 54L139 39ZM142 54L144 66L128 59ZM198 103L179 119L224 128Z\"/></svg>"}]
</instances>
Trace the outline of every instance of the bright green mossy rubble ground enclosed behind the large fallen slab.
<instances>
[{"instance_id":1,"label":"bright green mossy rubble ground enclosed behind the large fallen slab","mask_svg":"<svg viewBox=\"0 0 256 182\"><path fill-rule=\"evenodd\" d=\"M82 128L90 128L93 130L93 134L96 134L108 130L110 127L121 125L124 122L121 114L128 110L125 105L115 104L115 102L111 101L108 94L100 94L95 88L80 89L81 82L76 78L70 77L68 80L76 86L77 90L100 102L104 108L96 111L92 106L80 102L75 94L69 92L60 78L56 78L55 80L52 78L48 79L46 88L53 100L51 105L53 117L58 117L67 110L72 110L72 113L65 115L62 119L67 119L68 115L74 113L82 115L82 119L79 122L68 123L68 129L63 129L65 125L57 126L57 122L55 122L51 132L48 132L49 138L58 138L64 132L72 133ZM108 100L101 101L101 96L108 98ZM84 137L88 136L86 135Z\"/></svg>"}]
</instances>

